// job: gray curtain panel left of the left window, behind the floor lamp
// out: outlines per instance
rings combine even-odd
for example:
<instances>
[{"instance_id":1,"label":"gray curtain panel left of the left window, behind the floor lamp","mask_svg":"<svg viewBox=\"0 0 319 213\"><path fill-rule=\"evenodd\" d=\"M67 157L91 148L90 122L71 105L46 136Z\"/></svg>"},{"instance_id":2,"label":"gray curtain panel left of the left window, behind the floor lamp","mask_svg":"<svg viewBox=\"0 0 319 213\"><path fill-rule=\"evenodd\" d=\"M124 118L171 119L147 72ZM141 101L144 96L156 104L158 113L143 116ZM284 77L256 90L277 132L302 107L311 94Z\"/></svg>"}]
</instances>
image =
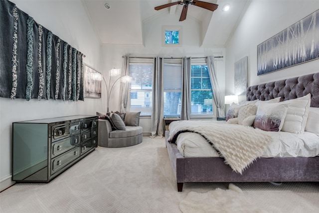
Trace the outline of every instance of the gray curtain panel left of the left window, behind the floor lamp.
<instances>
[{"instance_id":1,"label":"gray curtain panel left of the left window, behind the floor lamp","mask_svg":"<svg viewBox=\"0 0 319 213\"><path fill-rule=\"evenodd\" d=\"M129 65L130 65L130 57L128 55L124 56L123 59L123 76L129 75ZM127 103L129 100L129 91L130 91L130 82L121 82L121 106L120 112L125 113L127 108Z\"/></svg>"}]
</instances>

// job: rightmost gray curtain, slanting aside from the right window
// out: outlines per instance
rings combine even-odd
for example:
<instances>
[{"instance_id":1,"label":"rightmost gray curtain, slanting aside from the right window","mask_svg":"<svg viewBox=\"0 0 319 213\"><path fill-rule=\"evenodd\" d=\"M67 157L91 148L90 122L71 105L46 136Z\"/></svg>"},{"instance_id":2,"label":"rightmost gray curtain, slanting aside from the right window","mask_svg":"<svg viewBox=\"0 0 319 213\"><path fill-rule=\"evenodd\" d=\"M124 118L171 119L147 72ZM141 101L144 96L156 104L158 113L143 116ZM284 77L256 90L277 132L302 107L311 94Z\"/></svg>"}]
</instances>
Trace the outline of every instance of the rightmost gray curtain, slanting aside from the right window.
<instances>
[{"instance_id":1,"label":"rightmost gray curtain, slanting aside from the right window","mask_svg":"<svg viewBox=\"0 0 319 213\"><path fill-rule=\"evenodd\" d=\"M211 87L213 90L213 96L214 96L214 102L217 106L217 117L225 117L225 109L224 109L224 102L221 98L219 87L218 87L218 81L216 77L216 70L214 66L214 56L207 56L206 63L208 67L209 72L209 78L211 82Z\"/></svg>"}]
</instances>

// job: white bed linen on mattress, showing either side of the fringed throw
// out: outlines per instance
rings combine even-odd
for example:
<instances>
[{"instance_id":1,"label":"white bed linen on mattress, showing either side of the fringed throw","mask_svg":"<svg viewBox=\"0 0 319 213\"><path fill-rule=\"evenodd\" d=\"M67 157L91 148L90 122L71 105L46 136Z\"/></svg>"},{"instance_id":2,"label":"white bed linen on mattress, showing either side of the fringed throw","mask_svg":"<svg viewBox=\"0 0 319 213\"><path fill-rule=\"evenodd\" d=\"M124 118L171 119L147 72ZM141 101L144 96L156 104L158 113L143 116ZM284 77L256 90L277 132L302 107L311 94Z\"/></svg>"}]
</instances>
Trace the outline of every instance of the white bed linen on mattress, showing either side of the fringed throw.
<instances>
[{"instance_id":1,"label":"white bed linen on mattress, showing either side of the fringed throw","mask_svg":"<svg viewBox=\"0 0 319 213\"><path fill-rule=\"evenodd\" d=\"M221 121L218 121L221 122ZM236 124L230 124L236 125ZM261 157L315 157L319 156L319 135L311 132L294 134L268 132L273 141ZM177 149L184 157L219 157L216 150L197 133L185 132L178 135Z\"/></svg>"}]
</instances>

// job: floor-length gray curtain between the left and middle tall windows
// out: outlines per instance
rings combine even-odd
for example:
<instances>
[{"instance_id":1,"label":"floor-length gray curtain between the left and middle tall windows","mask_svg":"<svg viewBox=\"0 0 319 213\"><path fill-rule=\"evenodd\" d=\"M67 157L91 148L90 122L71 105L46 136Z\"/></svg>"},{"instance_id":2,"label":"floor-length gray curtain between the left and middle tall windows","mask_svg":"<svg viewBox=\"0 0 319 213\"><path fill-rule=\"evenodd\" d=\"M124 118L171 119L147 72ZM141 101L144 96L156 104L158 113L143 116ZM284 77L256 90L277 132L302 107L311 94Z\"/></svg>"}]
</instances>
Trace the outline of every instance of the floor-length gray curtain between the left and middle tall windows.
<instances>
[{"instance_id":1,"label":"floor-length gray curtain between the left and middle tall windows","mask_svg":"<svg viewBox=\"0 0 319 213\"><path fill-rule=\"evenodd\" d=\"M164 132L163 66L162 58L157 57L153 75L151 138L162 137Z\"/></svg>"}]
</instances>

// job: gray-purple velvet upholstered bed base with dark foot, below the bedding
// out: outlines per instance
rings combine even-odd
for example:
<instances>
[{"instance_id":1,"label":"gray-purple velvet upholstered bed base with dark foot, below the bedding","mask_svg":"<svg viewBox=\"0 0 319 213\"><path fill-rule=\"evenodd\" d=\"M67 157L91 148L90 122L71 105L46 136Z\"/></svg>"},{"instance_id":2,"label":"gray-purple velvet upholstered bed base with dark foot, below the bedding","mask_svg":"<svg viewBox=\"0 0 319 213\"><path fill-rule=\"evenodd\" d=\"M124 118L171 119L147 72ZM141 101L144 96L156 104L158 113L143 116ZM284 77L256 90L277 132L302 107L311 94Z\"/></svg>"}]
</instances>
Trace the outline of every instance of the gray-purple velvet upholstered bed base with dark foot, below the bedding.
<instances>
[{"instance_id":1,"label":"gray-purple velvet upholstered bed base with dark foot, below the bedding","mask_svg":"<svg viewBox=\"0 0 319 213\"><path fill-rule=\"evenodd\" d=\"M184 158L174 143L166 147L181 192L184 182L319 182L319 157L260 158L242 175L234 172L219 157Z\"/></svg>"}]
</instances>

